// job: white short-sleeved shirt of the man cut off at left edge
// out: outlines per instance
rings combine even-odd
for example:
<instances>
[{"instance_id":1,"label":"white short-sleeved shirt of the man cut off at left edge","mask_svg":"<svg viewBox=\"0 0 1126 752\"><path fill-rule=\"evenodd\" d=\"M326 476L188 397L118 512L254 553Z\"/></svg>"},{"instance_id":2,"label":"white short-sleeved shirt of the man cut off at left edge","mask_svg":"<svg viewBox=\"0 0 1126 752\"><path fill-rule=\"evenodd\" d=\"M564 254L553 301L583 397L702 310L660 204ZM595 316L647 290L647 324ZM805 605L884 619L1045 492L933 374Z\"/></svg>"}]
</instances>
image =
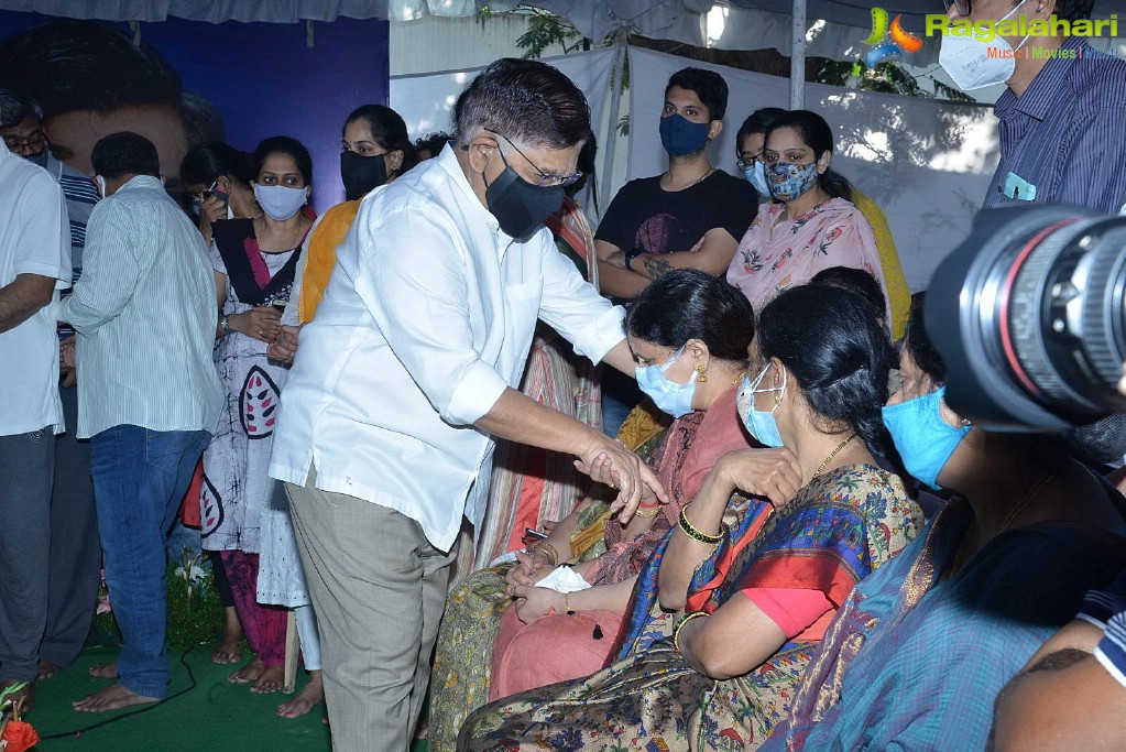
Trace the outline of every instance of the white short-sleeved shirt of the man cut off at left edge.
<instances>
[{"instance_id":1,"label":"white short-sleeved shirt of the man cut off at left edge","mask_svg":"<svg viewBox=\"0 0 1126 752\"><path fill-rule=\"evenodd\" d=\"M0 436L63 430L59 399L59 289L70 287L63 191L46 170L0 142L0 287L19 275L55 279L51 303L0 333Z\"/></svg>"}]
</instances>

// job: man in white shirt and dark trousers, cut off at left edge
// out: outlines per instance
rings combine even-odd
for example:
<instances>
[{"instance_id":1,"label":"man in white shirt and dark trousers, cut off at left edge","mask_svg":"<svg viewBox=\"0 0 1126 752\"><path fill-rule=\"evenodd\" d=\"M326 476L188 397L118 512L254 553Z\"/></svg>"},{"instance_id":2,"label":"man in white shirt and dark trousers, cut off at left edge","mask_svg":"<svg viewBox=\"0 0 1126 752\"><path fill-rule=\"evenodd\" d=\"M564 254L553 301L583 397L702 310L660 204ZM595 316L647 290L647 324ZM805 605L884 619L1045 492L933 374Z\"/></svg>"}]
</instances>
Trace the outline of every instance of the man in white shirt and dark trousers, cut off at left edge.
<instances>
[{"instance_id":1,"label":"man in white shirt and dark trousers, cut off at left edge","mask_svg":"<svg viewBox=\"0 0 1126 752\"><path fill-rule=\"evenodd\" d=\"M59 186L0 144L0 692L34 682L47 620L59 399L59 289L70 285ZM18 697L25 709L34 683Z\"/></svg>"}]
</instances>

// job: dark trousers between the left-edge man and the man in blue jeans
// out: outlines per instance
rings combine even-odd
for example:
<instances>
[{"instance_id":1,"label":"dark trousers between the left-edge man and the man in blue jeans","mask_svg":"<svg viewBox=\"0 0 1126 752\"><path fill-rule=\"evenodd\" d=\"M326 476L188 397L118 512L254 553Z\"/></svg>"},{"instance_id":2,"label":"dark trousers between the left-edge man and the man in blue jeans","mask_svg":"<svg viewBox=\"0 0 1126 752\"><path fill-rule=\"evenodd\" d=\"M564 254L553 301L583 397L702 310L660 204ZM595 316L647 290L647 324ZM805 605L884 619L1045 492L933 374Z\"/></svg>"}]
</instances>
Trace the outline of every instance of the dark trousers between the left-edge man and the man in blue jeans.
<instances>
[{"instance_id":1,"label":"dark trousers between the left-edge man and the man in blue jeans","mask_svg":"<svg viewBox=\"0 0 1126 752\"><path fill-rule=\"evenodd\" d=\"M47 626L39 657L69 666L82 652L93 623L101 572L98 511L90 480L90 441L74 438L78 388L60 390L66 433L55 439L51 493L51 563Z\"/></svg>"}]
</instances>

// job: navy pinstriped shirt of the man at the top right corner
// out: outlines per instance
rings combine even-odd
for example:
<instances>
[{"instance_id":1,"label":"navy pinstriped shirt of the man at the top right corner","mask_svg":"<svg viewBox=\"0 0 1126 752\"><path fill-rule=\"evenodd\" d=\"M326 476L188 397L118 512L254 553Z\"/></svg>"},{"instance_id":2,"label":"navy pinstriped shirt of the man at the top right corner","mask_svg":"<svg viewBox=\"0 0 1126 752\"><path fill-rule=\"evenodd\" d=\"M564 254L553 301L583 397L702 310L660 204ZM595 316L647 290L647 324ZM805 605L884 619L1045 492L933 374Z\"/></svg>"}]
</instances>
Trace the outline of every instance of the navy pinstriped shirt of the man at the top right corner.
<instances>
[{"instance_id":1,"label":"navy pinstriped shirt of the man at the top right corner","mask_svg":"<svg viewBox=\"0 0 1126 752\"><path fill-rule=\"evenodd\" d=\"M1081 37L1062 52L1074 57L1048 61L1019 98L1007 90L997 100L1001 163L985 208L1017 198L1115 214L1126 203L1126 60ZM1006 194L1010 173L1016 196Z\"/></svg>"}]
</instances>

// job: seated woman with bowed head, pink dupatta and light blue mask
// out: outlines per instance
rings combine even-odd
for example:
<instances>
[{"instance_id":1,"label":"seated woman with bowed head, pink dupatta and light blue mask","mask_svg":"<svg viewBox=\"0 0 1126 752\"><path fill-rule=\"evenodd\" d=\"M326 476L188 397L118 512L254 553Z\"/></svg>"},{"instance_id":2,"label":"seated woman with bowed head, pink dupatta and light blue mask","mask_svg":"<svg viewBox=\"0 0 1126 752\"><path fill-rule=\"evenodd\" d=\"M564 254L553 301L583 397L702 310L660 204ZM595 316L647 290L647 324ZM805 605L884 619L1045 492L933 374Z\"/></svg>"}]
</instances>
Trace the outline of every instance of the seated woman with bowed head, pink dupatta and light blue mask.
<instances>
[{"instance_id":1,"label":"seated woman with bowed head, pink dupatta and light blue mask","mask_svg":"<svg viewBox=\"0 0 1126 752\"><path fill-rule=\"evenodd\" d=\"M508 575L517 600L501 617L493 645L491 699L600 669L649 555L677 525L715 462L749 447L735 386L747 370L753 315L738 290L701 271L673 272L635 299L626 332L642 390L677 419L652 458L670 503L654 499L646 510L643 502L624 529L607 520L607 553L573 566L582 589L563 593L535 587L557 574L555 567L521 557Z\"/></svg>"}]
</instances>

